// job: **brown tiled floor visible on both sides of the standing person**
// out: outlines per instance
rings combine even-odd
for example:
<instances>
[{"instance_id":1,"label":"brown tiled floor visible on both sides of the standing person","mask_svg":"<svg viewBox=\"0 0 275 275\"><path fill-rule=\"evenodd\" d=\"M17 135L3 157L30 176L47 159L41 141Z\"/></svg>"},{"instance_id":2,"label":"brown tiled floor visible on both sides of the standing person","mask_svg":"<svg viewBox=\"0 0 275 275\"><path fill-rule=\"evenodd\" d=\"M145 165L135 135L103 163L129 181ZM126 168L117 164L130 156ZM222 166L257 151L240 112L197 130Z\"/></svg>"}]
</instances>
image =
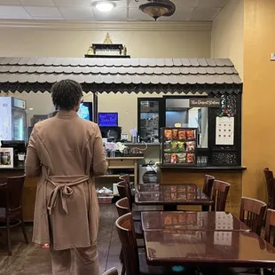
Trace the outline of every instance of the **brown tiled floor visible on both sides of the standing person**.
<instances>
[{"instance_id":1,"label":"brown tiled floor visible on both sides of the standing person","mask_svg":"<svg viewBox=\"0 0 275 275\"><path fill-rule=\"evenodd\" d=\"M117 217L114 204L100 205L100 224L98 232L98 253L100 271L116 267L121 271L119 261L120 240L114 227ZM26 245L20 229L12 232L12 256L7 256L5 233L0 231L0 274L4 275L50 275L51 260L49 249L33 243ZM32 228L27 228L31 240ZM72 274L74 275L74 274Z\"/></svg>"}]
</instances>

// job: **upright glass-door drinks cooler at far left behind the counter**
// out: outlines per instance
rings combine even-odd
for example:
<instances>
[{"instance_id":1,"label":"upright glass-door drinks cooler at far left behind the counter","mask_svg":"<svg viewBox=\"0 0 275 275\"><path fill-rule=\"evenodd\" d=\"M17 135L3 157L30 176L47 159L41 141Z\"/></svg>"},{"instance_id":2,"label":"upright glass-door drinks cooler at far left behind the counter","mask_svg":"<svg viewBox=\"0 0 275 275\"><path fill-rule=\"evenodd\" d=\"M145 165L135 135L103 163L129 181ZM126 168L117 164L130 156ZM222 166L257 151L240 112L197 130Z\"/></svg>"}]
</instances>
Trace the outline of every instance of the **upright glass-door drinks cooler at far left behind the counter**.
<instances>
[{"instance_id":1,"label":"upright glass-door drinks cooler at far left behind the counter","mask_svg":"<svg viewBox=\"0 0 275 275\"><path fill-rule=\"evenodd\" d=\"M0 140L27 138L26 101L20 98L0 97Z\"/></svg>"}]
</instances>

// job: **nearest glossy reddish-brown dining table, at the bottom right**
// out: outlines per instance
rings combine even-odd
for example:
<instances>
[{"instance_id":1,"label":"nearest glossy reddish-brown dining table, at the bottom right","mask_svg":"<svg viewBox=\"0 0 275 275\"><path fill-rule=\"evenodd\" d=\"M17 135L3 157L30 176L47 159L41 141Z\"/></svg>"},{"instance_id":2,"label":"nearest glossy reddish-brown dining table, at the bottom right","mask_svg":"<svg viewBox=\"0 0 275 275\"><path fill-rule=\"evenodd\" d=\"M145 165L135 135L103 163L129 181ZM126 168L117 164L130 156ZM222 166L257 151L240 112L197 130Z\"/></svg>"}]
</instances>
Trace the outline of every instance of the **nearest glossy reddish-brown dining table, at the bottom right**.
<instances>
[{"instance_id":1,"label":"nearest glossy reddish-brown dining table, at the bottom right","mask_svg":"<svg viewBox=\"0 0 275 275\"><path fill-rule=\"evenodd\" d=\"M274 268L275 248L254 232L145 231L147 263Z\"/></svg>"}]
</instances>

